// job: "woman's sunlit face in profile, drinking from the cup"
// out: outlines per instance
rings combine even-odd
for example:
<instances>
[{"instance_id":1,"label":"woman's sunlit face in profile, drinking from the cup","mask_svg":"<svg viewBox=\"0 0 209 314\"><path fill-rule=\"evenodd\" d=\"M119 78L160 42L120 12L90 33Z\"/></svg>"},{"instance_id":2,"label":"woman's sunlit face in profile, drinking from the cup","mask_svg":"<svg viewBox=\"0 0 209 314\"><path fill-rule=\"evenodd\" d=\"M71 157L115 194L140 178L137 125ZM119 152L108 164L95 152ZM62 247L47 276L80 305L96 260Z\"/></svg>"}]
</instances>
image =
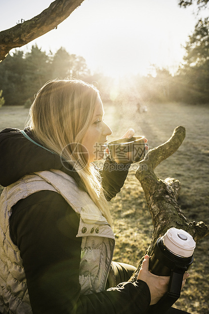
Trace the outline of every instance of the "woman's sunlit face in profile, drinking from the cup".
<instances>
[{"instance_id":1,"label":"woman's sunlit face in profile, drinking from the cup","mask_svg":"<svg viewBox=\"0 0 209 314\"><path fill-rule=\"evenodd\" d=\"M93 119L81 141L81 144L85 146L88 151L89 163L103 159L106 148L104 143L107 142L107 136L112 134L112 130L103 121L103 116L104 109L102 101L100 97L98 97Z\"/></svg>"}]
</instances>

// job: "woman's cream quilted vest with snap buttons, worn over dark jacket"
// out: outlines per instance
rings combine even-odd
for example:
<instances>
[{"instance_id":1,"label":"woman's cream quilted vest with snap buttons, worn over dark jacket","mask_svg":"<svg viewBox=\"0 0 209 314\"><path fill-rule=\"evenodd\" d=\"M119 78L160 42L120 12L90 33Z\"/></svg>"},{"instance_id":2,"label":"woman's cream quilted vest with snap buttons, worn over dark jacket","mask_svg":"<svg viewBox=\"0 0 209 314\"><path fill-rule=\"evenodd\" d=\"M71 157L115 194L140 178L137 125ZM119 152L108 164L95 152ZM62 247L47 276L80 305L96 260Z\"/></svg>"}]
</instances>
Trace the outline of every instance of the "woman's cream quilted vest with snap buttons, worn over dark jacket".
<instances>
[{"instance_id":1,"label":"woman's cream quilted vest with snap buttons, worn over dark jacket","mask_svg":"<svg viewBox=\"0 0 209 314\"><path fill-rule=\"evenodd\" d=\"M36 172L6 187L0 203L0 312L32 313L20 251L10 238L12 206L40 190L56 191L79 214L76 237L82 237L79 283L81 294L105 289L112 255L114 233L89 195L74 179L60 170Z\"/></svg>"}]
</instances>

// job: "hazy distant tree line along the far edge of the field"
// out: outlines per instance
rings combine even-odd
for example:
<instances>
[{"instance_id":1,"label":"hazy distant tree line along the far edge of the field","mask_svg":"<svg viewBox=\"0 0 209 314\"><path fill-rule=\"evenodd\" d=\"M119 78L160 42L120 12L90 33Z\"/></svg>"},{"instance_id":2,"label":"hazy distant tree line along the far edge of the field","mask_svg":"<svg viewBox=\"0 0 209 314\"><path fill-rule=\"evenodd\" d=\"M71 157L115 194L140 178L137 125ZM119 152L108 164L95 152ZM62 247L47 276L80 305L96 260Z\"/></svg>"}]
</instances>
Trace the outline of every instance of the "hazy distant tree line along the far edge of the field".
<instances>
[{"instance_id":1,"label":"hazy distant tree line along the far edge of the field","mask_svg":"<svg viewBox=\"0 0 209 314\"><path fill-rule=\"evenodd\" d=\"M183 62L174 76L167 69L155 67L155 75L132 77L132 87L122 84L117 100L128 97L144 102L209 103L209 18L196 23L184 48ZM103 100L111 100L110 78L101 73L92 75L83 57L69 54L64 48L47 54L36 45L26 53L16 50L0 63L0 98L4 97L5 105L30 106L33 95L47 81L65 77L96 81Z\"/></svg>"}]
</instances>

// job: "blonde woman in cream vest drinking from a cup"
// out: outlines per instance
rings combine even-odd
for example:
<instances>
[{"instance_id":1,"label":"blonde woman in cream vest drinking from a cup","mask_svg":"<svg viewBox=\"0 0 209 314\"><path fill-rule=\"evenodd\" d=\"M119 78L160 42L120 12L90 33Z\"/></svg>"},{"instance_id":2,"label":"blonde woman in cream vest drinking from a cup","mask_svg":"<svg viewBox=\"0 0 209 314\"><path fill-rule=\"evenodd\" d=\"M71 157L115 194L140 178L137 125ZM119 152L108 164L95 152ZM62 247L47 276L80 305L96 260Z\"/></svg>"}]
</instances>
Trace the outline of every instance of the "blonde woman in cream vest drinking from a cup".
<instances>
[{"instance_id":1,"label":"blonde woman in cream vest drinking from a cup","mask_svg":"<svg viewBox=\"0 0 209 314\"><path fill-rule=\"evenodd\" d=\"M169 279L151 274L146 256L135 283L119 273L123 283L114 287L116 267L128 271L111 264L107 200L120 190L128 170L99 174L94 167L112 133L98 90L79 80L51 81L36 95L30 115L25 132L5 129L0 136L0 183L6 186L0 311L146 312L166 292ZM107 289L111 272L115 280Z\"/></svg>"}]
</instances>

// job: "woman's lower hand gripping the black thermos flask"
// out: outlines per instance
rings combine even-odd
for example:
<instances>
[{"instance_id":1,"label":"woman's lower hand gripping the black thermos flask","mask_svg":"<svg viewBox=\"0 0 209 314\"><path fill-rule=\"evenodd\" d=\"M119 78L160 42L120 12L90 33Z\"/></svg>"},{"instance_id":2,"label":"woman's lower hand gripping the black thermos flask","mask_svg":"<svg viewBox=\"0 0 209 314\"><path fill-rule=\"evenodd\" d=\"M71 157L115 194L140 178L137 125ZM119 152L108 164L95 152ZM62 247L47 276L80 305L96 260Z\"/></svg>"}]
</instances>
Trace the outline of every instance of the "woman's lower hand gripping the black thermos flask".
<instances>
[{"instance_id":1,"label":"woman's lower hand gripping the black thermos flask","mask_svg":"<svg viewBox=\"0 0 209 314\"><path fill-rule=\"evenodd\" d=\"M144 281L150 290L151 302L150 305L157 303L161 297L168 291L170 276L156 276L155 274L149 272L149 256L145 255L142 267L139 271L138 278ZM182 282L182 288L185 285L186 278L189 274L185 272Z\"/></svg>"}]
</instances>

